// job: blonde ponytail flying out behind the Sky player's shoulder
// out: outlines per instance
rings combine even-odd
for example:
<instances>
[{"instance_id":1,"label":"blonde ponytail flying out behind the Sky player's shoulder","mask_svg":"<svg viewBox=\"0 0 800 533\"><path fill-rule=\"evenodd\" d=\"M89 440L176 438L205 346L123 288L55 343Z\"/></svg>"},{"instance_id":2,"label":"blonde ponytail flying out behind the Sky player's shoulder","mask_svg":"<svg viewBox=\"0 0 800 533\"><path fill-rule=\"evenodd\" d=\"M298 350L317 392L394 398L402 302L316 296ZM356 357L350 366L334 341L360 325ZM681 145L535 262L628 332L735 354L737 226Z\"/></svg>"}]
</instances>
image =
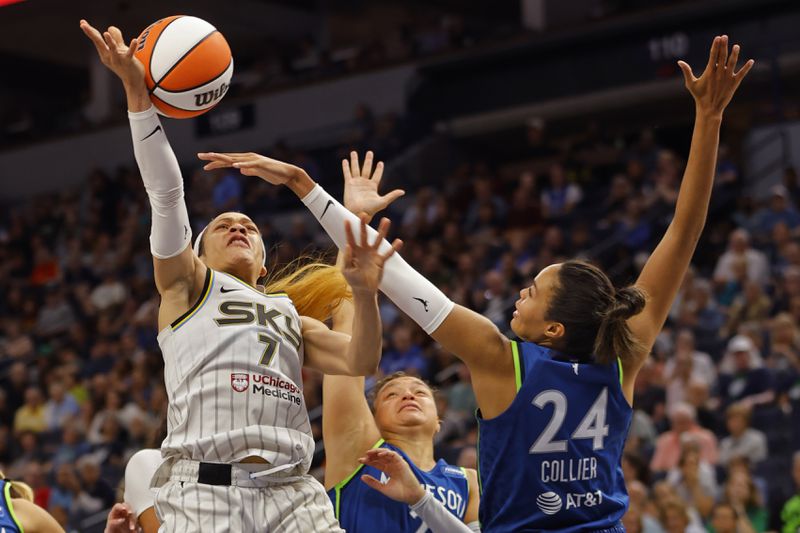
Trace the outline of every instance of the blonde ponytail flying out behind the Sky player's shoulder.
<instances>
[{"instance_id":1,"label":"blonde ponytail flying out behind the Sky player's shoulder","mask_svg":"<svg viewBox=\"0 0 800 533\"><path fill-rule=\"evenodd\" d=\"M343 298L350 298L350 287L338 267L319 257L304 255L267 275L264 291L285 292L301 316L325 321Z\"/></svg>"}]
</instances>

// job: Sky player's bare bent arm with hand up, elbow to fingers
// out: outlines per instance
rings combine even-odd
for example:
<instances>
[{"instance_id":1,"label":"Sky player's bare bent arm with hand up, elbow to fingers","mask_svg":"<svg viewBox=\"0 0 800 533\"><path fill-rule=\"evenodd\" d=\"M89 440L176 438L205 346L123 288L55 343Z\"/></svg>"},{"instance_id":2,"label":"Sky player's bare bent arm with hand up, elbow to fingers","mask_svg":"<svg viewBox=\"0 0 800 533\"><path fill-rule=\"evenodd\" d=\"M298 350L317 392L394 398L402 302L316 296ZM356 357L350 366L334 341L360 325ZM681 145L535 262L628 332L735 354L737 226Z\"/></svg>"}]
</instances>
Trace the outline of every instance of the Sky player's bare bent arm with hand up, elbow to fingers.
<instances>
[{"instance_id":1,"label":"Sky player's bare bent arm with hand up, elbow to fingers","mask_svg":"<svg viewBox=\"0 0 800 533\"><path fill-rule=\"evenodd\" d=\"M381 358L383 331L378 286L386 260L400 249L402 242L395 240L387 251L381 252L389 220L381 221L379 233L371 243L367 240L366 222L361 220L359 224L356 239L350 221L344 222L347 245L342 274L353 293L353 335L331 331L322 322L302 317L306 364L324 374L368 376L377 371Z\"/></svg>"}]
</instances>

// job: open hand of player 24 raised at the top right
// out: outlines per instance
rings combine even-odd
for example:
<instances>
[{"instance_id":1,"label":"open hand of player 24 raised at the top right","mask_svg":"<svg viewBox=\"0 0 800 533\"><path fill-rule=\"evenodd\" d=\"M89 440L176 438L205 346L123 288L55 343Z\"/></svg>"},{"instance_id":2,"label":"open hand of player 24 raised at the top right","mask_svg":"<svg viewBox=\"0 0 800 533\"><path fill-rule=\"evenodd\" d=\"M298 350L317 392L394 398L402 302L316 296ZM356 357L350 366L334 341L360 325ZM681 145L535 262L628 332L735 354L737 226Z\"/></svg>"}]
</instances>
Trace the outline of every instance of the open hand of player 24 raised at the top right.
<instances>
[{"instance_id":1,"label":"open hand of player 24 raised at the top right","mask_svg":"<svg viewBox=\"0 0 800 533\"><path fill-rule=\"evenodd\" d=\"M728 53L728 36L715 37L711 44L711 52L705 71L699 78L695 78L690 67L684 61L678 61L678 66L683 71L686 88L692 93L698 111L712 114L722 114L733 98L733 93L739 84L753 68L755 61L748 60L742 68L736 70L739 60L739 45L733 45Z\"/></svg>"}]
</instances>

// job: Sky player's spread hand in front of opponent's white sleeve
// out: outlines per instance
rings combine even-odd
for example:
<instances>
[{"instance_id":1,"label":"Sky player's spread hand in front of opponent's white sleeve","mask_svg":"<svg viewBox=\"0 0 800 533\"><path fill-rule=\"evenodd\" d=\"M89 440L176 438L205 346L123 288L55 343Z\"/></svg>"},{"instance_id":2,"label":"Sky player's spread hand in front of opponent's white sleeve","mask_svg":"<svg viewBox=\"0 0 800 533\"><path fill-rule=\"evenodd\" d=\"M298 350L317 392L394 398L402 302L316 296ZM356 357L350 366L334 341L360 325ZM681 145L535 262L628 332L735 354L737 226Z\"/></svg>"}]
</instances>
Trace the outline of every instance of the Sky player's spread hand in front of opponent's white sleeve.
<instances>
[{"instance_id":1,"label":"Sky player's spread hand in front of opponent's white sleeve","mask_svg":"<svg viewBox=\"0 0 800 533\"><path fill-rule=\"evenodd\" d=\"M392 243L391 249L381 254L378 249L381 242L386 238L389 232L391 223L388 218L381 220L378 227L378 236L375 242L369 244L367 242L367 222L366 216L361 217L361 238L356 243L355 235L353 235L353 228L350 226L349 221L345 221L344 229L347 234L347 246L344 250L344 265L342 266L342 274L344 275L347 283L353 292L377 292L378 285L381 283L383 277L383 265L392 254L398 251L403 246L403 241L395 239Z\"/></svg>"}]
</instances>

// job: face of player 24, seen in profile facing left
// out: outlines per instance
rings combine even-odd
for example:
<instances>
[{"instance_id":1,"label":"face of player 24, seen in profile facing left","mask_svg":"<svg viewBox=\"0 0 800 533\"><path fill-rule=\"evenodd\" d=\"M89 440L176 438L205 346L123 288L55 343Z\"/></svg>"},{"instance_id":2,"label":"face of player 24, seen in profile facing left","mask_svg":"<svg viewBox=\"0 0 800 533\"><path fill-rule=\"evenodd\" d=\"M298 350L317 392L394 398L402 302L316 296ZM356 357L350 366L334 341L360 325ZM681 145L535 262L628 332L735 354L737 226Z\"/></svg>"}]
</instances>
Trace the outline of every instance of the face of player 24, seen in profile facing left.
<instances>
[{"instance_id":1,"label":"face of player 24, seen in profile facing left","mask_svg":"<svg viewBox=\"0 0 800 533\"><path fill-rule=\"evenodd\" d=\"M563 326L545 320L553 291L558 286L560 264L550 265L539 272L530 286L519 291L517 308L511 319L511 329L521 339L532 342L552 340L563 335Z\"/></svg>"}]
</instances>

